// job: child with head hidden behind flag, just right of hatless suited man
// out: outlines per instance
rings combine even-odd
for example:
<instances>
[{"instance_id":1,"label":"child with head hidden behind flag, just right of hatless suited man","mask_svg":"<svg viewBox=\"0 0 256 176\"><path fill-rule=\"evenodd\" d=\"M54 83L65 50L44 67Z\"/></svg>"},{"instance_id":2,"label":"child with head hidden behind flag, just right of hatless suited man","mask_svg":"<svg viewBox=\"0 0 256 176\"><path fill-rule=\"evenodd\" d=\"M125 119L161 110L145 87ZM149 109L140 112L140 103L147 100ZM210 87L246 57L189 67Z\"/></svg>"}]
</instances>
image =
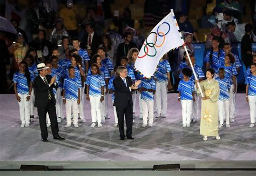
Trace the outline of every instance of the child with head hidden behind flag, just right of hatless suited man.
<instances>
[{"instance_id":1,"label":"child with head hidden behind flag, just right of hatless suited man","mask_svg":"<svg viewBox=\"0 0 256 176\"><path fill-rule=\"evenodd\" d=\"M139 85L139 91L141 93L142 104L142 127L147 126L147 117L149 117L149 127L153 126L154 118L154 93L156 93L156 82L153 78L142 79Z\"/></svg>"}]
</instances>

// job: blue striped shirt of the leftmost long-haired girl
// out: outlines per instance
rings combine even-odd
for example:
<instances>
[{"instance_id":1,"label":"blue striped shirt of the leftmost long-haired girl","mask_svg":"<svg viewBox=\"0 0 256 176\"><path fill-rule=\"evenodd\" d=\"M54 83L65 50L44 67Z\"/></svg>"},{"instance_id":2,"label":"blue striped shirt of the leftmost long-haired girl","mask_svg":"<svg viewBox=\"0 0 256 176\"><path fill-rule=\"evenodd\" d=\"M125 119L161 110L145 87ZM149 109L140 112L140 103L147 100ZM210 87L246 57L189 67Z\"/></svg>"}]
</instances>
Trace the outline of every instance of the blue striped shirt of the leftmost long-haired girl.
<instances>
[{"instance_id":1,"label":"blue striped shirt of the leftmost long-haired girl","mask_svg":"<svg viewBox=\"0 0 256 176\"><path fill-rule=\"evenodd\" d=\"M25 73L19 73L17 71L14 73L12 81L17 83L17 92L19 94L29 94L28 79L25 77Z\"/></svg>"}]
</instances>

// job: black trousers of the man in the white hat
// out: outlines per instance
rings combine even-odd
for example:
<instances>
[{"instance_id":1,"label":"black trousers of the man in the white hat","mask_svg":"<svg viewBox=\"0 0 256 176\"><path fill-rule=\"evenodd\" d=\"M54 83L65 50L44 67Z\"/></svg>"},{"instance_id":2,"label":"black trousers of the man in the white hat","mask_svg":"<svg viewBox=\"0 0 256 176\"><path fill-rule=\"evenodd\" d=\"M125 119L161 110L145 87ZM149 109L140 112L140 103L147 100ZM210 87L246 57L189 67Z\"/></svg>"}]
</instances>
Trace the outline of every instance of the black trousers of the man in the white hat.
<instances>
[{"instance_id":1,"label":"black trousers of the man in the white hat","mask_svg":"<svg viewBox=\"0 0 256 176\"><path fill-rule=\"evenodd\" d=\"M48 112L49 118L51 121L51 132L53 137L58 137L59 127L56 115L55 104L53 104L52 100L48 100L47 106L45 108L38 107L37 113L39 116L39 125L41 128L41 136L42 138L48 138L48 131L46 126L46 113Z\"/></svg>"}]
</instances>

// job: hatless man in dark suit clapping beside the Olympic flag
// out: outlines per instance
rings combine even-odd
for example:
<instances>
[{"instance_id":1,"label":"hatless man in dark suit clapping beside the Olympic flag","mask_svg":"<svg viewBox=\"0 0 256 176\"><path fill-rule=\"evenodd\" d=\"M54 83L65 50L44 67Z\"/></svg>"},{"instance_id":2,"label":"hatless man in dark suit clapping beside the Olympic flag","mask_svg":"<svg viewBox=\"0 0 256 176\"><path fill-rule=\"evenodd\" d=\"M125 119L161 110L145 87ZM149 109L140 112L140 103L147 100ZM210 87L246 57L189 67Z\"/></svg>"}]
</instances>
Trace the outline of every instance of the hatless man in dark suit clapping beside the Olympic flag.
<instances>
[{"instance_id":1,"label":"hatless man in dark suit clapping beside the Olympic flag","mask_svg":"<svg viewBox=\"0 0 256 176\"><path fill-rule=\"evenodd\" d=\"M124 140L124 115L126 121L126 136L127 139L132 137L132 90L138 89L140 80L132 84L131 77L127 77L127 69L125 66L117 68L117 75L113 80L114 85L114 104L116 106L118 127L120 132L120 140Z\"/></svg>"}]
</instances>

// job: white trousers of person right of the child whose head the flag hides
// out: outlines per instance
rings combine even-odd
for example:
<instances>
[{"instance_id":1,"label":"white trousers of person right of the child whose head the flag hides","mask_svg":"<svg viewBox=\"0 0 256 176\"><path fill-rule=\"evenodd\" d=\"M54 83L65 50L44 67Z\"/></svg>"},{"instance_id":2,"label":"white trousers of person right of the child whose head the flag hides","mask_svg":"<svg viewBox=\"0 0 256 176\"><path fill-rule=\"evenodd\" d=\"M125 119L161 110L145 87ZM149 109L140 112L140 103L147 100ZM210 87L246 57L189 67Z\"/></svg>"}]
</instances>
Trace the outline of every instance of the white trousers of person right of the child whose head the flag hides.
<instances>
[{"instance_id":1,"label":"white trousers of person right of the child whose head the flag hides","mask_svg":"<svg viewBox=\"0 0 256 176\"><path fill-rule=\"evenodd\" d=\"M166 115L167 110L167 84L167 82L156 82L156 108L157 113L162 115Z\"/></svg>"}]
</instances>

